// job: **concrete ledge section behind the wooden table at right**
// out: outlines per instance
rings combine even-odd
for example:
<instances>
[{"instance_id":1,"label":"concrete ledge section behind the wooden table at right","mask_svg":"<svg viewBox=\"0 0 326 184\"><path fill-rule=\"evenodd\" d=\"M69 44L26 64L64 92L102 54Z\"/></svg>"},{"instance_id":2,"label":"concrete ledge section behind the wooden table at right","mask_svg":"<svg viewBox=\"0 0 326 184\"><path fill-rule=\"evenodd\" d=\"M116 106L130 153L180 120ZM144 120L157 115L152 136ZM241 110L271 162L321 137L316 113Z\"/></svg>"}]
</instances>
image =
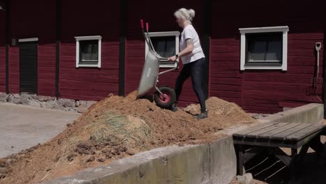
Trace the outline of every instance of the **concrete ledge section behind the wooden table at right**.
<instances>
[{"instance_id":1,"label":"concrete ledge section behind the wooden table at right","mask_svg":"<svg viewBox=\"0 0 326 184\"><path fill-rule=\"evenodd\" d=\"M286 122L286 123L322 123L324 119L323 104L311 103L285 112L279 112L270 116L260 118L261 123Z\"/></svg>"}]
</instances>

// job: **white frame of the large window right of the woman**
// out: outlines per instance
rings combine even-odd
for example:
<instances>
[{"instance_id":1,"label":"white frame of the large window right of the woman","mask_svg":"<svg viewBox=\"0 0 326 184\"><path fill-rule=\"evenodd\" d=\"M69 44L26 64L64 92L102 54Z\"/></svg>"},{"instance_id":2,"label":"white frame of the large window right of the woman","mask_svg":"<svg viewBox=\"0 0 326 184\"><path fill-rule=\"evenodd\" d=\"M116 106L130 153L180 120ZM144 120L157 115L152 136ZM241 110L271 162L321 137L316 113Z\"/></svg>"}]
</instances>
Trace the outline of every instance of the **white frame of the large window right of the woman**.
<instances>
[{"instance_id":1,"label":"white frame of the large window right of the woman","mask_svg":"<svg viewBox=\"0 0 326 184\"><path fill-rule=\"evenodd\" d=\"M288 70L288 26L269 26L240 28L241 49L240 49L240 70ZM283 35L283 56L281 66L262 64L261 66L250 66L245 64L246 60L246 33L274 33L281 32Z\"/></svg>"}]
</instances>

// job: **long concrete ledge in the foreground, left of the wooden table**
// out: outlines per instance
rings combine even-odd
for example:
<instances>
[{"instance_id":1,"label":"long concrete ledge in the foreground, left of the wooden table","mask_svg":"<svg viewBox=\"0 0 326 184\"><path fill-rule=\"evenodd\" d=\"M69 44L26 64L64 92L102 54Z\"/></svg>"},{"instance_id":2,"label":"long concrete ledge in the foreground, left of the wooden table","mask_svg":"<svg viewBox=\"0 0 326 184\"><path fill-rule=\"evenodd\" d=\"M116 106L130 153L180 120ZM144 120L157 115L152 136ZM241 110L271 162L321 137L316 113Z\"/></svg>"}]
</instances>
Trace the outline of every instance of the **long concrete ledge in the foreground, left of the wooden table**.
<instances>
[{"instance_id":1,"label":"long concrete ledge in the foreground, left of the wooden table","mask_svg":"<svg viewBox=\"0 0 326 184\"><path fill-rule=\"evenodd\" d=\"M51 184L77 183L230 183L236 174L231 136L212 144L167 146L107 166L57 178Z\"/></svg>"}]
</instances>

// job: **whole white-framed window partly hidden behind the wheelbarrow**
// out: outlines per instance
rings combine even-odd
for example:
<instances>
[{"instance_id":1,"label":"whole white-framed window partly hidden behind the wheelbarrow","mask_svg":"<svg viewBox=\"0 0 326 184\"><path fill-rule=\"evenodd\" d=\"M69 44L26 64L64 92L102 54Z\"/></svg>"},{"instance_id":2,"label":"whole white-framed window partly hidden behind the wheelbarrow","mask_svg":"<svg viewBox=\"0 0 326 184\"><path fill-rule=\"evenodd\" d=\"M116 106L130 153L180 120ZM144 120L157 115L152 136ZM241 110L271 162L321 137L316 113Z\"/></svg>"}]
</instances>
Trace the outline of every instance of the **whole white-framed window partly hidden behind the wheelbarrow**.
<instances>
[{"instance_id":1,"label":"whole white-framed window partly hidden behind the wheelbarrow","mask_svg":"<svg viewBox=\"0 0 326 184\"><path fill-rule=\"evenodd\" d=\"M174 56L179 53L179 35L178 31L169 32L155 32L148 33L150 40L153 43L153 47L157 54L162 57ZM148 45L146 43L146 52L148 52ZM161 61L160 68L173 68L176 64L170 61Z\"/></svg>"}]
</instances>

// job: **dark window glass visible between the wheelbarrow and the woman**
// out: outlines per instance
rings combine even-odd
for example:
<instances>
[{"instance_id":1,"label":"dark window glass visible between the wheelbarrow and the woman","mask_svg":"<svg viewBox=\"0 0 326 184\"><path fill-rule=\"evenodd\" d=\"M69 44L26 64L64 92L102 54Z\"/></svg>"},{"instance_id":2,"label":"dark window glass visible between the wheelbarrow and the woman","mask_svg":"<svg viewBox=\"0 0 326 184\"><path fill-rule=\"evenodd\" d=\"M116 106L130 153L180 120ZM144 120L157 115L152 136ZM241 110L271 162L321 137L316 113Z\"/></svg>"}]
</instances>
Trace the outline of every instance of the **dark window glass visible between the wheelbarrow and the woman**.
<instances>
[{"instance_id":1,"label":"dark window glass visible between the wheelbarrow and the woman","mask_svg":"<svg viewBox=\"0 0 326 184\"><path fill-rule=\"evenodd\" d=\"M164 36L164 37L150 37L153 43L153 47L157 54L162 57L169 57L176 55L176 37Z\"/></svg>"}]
</instances>

